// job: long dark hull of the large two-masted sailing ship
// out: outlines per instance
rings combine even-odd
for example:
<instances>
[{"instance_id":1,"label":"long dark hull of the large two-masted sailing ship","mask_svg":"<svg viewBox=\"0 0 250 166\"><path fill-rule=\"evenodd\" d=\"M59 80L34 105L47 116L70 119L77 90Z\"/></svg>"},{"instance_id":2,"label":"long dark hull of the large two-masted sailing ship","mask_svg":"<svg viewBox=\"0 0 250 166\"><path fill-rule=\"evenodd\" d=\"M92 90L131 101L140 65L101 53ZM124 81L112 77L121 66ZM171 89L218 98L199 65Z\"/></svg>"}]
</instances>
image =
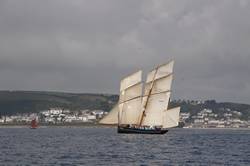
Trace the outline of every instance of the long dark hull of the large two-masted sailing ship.
<instances>
[{"instance_id":1,"label":"long dark hull of the large two-masted sailing ship","mask_svg":"<svg viewBox=\"0 0 250 166\"><path fill-rule=\"evenodd\" d=\"M129 128L129 127L118 127L118 133L123 134L165 134L168 132L166 129L139 129L139 128Z\"/></svg>"}]
</instances>

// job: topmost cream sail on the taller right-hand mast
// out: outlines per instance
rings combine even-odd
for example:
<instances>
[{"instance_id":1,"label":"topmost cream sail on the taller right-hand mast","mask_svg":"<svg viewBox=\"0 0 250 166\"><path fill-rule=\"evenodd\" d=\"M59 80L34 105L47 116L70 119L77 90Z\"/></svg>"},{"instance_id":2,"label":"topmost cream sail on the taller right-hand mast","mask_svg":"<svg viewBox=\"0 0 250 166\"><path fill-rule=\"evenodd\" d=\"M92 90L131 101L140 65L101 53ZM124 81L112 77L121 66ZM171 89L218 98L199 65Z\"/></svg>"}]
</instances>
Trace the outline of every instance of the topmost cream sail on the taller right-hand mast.
<instances>
[{"instance_id":1,"label":"topmost cream sail on the taller right-hand mast","mask_svg":"<svg viewBox=\"0 0 250 166\"><path fill-rule=\"evenodd\" d=\"M168 76L169 74L173 73L173 67L174 67L174 61L170 61L164 65L159 66L158 68L152 70L147 75L147 81L146 83L149 83L153 80L157 80L159 78ZM157 73L155 74L157 70Z\"/></svg>"}]
</instances>

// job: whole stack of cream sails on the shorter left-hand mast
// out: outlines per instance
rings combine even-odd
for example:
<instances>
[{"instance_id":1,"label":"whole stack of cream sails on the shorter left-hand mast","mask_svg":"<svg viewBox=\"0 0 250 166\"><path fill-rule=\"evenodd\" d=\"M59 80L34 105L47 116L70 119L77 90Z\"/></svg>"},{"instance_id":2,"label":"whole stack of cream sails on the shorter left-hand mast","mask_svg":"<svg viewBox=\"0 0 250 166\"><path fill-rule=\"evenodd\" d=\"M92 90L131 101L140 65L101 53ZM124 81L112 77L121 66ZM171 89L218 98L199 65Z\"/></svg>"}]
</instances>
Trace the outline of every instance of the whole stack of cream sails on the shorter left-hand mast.
<instances>
[{"instance_id":1,"label":"whole stack of cream sails on the shorter left-hand mast","mask_svg":"<svg viewBox=\"0 0 250 166\"><path fill-rule=\"evenodd\" d=\"M119 124L137 124L141 112L142 71L124 78L120 85Z\"/></svg>"}]
</instances>

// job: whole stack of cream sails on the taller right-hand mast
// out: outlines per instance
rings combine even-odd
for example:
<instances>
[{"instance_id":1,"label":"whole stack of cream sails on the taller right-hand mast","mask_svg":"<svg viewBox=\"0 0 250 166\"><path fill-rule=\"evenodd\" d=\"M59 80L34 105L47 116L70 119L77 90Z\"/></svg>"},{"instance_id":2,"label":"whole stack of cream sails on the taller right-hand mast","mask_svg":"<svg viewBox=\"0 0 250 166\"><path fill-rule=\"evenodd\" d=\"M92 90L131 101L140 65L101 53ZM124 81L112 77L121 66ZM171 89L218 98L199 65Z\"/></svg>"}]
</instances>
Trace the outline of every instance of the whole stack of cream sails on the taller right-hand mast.
<instances>
[{"instance_id":1,"label":"whole stack of cream sails on the taller right-hand mast","mask_svg":"<svg viewBox=\"0 0 250 166\"><path fill-rule=\"evenodd\" d=\"M161 65L147 75L142 105L141 125L163 126L164 110L168 108L173 80L174 61Z\"/></svg>"}]
</instances>

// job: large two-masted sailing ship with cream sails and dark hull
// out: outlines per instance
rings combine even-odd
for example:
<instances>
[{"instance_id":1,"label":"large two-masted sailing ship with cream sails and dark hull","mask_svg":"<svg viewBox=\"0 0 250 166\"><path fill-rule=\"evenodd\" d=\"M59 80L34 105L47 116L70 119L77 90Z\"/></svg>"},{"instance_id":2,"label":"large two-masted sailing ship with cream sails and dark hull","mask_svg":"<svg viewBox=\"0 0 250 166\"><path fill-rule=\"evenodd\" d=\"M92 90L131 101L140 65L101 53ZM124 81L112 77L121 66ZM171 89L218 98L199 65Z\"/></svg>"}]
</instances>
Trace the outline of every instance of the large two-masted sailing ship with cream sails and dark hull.
<instances>
[{"instance_id":1,"label":"large two-masted sailing ship with cream sails and dark hull","mask_svg":"<svg viewBox=\"0 0 250 166\"><path fill-rule=\"evenodd\" d=\"M160 65L142 82L142 71L124 78L117 106L102 124L118 124L118 133L164 134L178 126L180 107L168 109L174 61ZM118 118L117 118L118 117Z\"/></svg>"}]
</instances>

